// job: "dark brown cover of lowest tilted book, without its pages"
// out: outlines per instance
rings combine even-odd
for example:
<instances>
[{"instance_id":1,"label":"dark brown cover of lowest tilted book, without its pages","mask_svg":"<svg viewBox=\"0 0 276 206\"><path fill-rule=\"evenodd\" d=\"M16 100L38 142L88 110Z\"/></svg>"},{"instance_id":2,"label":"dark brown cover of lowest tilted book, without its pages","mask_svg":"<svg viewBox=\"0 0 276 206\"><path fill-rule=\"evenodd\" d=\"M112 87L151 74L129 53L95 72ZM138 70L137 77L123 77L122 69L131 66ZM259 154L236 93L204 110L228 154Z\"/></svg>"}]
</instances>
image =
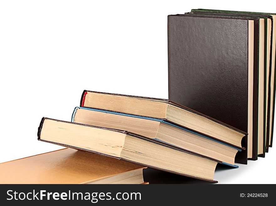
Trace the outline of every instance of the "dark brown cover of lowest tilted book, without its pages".
<instances>
[{"instance_id":1,"label":"dark brown cover of lowest tilted book, without its pages","mask_svg":"<svg viewBox=\"0 0 276 206\"><path fill-rule=\"evenodd\" d=\"M115 157L115 156L110 156L110 155L107 155L107 154L104 154L104 153L100 153L100 152L96 152L96 151L92 151L92 150L87 150L87 149L84 149L84 148L75 147L73 145L64 145L64 144L60 144L60 143L57 143L57 142L51 142L51 141L47 141L47 140L42 140L42 139L40 139L40 133L41 133L41 130L42 130L42 127L43 127L43 123L44 123L45 119L50 119L50 118L43 117L41 119L40 126L38 127L38 132L37 132L38 140L40 140L40 141L44 141L44 142L48 142L48 143L52 143L52 144L56 144L56 145L61 145L61 146L64 146L64 147L75 149L75 150L87 151L87 152L92 152L92 153L103 155L103 156L113 157L113 158L116 158L116 159L119 159L119 160L128 161L128 162L131 162L131 163L139 164L141 166L146 166L146 167L150 167L150 168L161 170L161 171L165 171L165 172L171 172L171 173L182 175L182 176L186 176L186 177L192 177L192 178L195 178L195 179L200 179L200 180L205 180L205 181L208 181L208 182L217 183L217 181L214 181L214 180L209 180L209 179L204 179L204 178L200 178L200 177L194 177L194 176L191 176L191 175L186 175L186 174L183 174L183 173L173 172L173 171L165 170L165 169L162 169L162 168L157 168L157 167L150 166L150 165L133 162L133 161L126 160L126 159L123 159L123 158L118 158L118 157ZM61 121L61 120L56 120L56 119L50 119L50 120L55 120L55 121L59 121L59 122L66 122L66 121ZM97 127L97 126L91 126L91 125L87 125L87 124L79 124L79 123L73 123L73 122L66 122L66 123L68 123L68 124L78 124L78 125L81 125L81 126L85 125L85 126L88 126L88 127L94 127L94 128L106 129L106 130L110 130L110 131L114 131L114 132L124 133L124 134L131 135L131 136L134 136L134 137L146 140L146 141L154 142L155 144L158 144L158 145L163 145L163 146L172 148L174 150L186 152L186 153L189 153L189 154L192 154L192 155L195 155L195 156L199 156L199 157L202 157L202 158L209 159L211 161L222 163L221 161L215 160L213 158L210 158L210 157L207 157L207 156L203 156L203 155L200 155L198 153L195 153L195 152L192 152L192 151L188 151L188 150L185 150L185 149L180 149L180 148L175 147L173 145L169 145L167 143L160 142L160 141L157 141L157 140L153 140L153 139L150 139L148 137L145 137L145 136L142 136L142 135L138 135L138 134L135 134L135 133L131 133L131 132L128 132L128 131L123 131L123 130L119 130L119 129L110 129L110 128L104 128L104 127Z\"/></svg>"}]
</instances>

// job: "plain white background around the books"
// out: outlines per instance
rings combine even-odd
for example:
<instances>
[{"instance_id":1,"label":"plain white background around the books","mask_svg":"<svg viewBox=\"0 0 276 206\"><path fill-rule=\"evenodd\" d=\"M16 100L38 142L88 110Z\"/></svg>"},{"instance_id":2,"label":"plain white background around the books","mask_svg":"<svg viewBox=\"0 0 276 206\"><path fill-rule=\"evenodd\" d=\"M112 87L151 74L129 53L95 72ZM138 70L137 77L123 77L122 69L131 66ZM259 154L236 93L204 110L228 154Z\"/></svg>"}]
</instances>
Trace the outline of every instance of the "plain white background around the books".
<instances>
[{"instance_id":1,"label":"plain white background around the books","mask_svg":"<svg viewBox=\"0 0 276 206\"><path fill-rule=\"evenodd\" d=\"M0 162L61 148L42 117L70 121L84 89L168 98L167 15L192 8L275 13L275 2L1 1ZM219 183L276 183L275 148Z\"/></svg>"}]
</instances>

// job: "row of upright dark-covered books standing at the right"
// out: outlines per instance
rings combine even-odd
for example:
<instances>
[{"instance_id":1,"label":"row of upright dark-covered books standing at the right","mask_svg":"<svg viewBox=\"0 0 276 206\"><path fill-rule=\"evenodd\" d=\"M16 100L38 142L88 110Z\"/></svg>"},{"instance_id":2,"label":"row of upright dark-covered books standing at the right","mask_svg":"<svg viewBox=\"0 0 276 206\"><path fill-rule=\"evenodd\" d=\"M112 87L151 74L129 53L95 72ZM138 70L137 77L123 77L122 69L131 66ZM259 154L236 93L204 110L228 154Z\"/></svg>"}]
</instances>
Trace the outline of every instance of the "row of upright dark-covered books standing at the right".
<instances>
[{"instance_id":1,"label":"row of upright dark-covered books standing at the right","mask_svg":"<svg viewBox=\"0 0 276 206\"><path fill-rule=\"evenodd\" d=\"M169 99L248 133L247 157L272 146L276 14L192 9L168 16Z\"/></svg>"}]
</instances>

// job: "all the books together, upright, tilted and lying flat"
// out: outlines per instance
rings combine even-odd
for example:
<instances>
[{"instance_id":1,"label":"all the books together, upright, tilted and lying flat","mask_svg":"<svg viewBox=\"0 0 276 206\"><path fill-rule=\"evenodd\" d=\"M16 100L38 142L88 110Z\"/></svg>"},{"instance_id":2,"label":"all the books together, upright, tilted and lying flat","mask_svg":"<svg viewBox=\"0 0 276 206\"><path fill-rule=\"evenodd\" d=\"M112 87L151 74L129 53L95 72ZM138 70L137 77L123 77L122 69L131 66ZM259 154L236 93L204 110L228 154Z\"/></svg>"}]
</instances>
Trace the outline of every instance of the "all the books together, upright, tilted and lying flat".
<instances>
[{"instance_id":1,"label":"all the books together, upright, tilted and lying flat","mask_svg":"<svg viewBox=\"0 0 276 206\"><path fill-rule=\"evenodd\" d=\"M2 163L0 182L146 184L146 167L216 182L217 164L264 157L273 139L275 18L169 15L170 100L84 90L70 122L43 117L37 133L74 150Z\"/></svg>"}]
</instances>

